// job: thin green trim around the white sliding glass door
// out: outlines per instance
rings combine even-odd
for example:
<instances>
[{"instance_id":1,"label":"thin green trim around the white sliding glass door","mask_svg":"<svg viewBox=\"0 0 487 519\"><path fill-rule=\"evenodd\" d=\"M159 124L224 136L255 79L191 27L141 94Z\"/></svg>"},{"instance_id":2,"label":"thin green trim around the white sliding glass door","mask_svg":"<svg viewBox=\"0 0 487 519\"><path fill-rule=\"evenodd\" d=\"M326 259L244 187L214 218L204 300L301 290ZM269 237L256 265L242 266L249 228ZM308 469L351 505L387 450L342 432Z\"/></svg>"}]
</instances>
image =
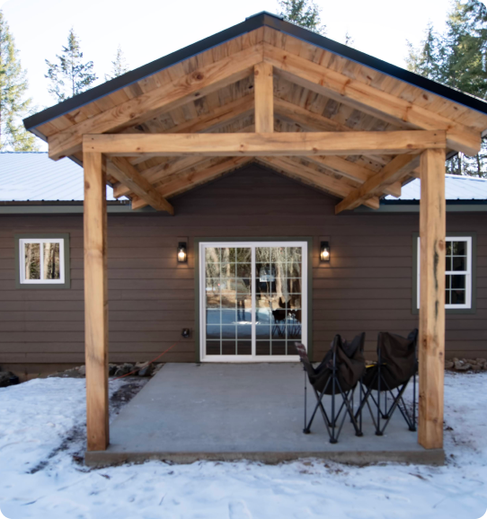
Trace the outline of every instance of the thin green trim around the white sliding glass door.
<instances>
[{"instance_id":1,"label":"thin green trim around the white sliding glass door","mask_svg":"<svg viewBox=\"0 0 487 519\"><path fill-rule=\"evenodd\" d=\"M195 238L192 243L194 254L194 297L195 297L195 319L194 340L196 362L201 362L199 356L199 243L201 242L306 242L307 243L307 354L313 358L313 238L310 236L244 236L240 238Z\"/></svg>"}]
</instances>

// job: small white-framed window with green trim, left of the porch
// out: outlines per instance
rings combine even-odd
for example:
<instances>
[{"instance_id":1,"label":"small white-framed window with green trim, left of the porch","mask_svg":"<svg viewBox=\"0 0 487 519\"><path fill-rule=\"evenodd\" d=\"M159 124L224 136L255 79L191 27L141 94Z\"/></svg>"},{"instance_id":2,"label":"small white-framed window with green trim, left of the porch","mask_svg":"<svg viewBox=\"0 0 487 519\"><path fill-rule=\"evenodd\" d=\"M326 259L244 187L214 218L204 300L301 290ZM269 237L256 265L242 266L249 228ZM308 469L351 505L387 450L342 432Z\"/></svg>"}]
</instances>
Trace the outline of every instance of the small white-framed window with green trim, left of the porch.
<instances>
[{"instance_id":1,"label":"small white-framed window with green trim, left of the porch","mask_svg":"<svg viewBox=\"0 0 487 519\"><path fill-rule=\"evenodd\" d=\"M18 235L17 286L69 286L69 237L66 234Z\"/></svg>"}]
</instances>

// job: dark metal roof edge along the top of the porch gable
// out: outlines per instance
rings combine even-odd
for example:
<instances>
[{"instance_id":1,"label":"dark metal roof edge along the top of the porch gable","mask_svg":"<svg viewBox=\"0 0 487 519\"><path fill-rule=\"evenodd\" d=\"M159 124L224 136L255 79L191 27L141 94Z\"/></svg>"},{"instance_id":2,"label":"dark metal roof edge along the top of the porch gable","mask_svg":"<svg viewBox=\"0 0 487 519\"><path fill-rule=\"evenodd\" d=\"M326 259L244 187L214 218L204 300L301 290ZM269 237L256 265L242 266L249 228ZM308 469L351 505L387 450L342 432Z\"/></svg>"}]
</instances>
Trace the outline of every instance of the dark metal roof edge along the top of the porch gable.
<instances>
[{"instance_id":1,"label":"dark metal roof edge along the top of the porch gable","mask_svg":"<svg viewBox=\"0 0 487 519\"><path fill-rule=\"evenodd\" d=\"M30 130L36 136L39 136L43 140L47 140L46 136L42 135L39 129L36 128L47 123L49 120L57 119L58 117L72 110L76 110L85 104L96 101L97 99L100 99L105 95L110 94L111 92L120 90L129 84L136 83L149 75L154 75L155 73L160 72L168 66L173 66L180 61L208 50L208 48L217 47L218 45L221 45L228 40L233 40L245 34L246 32L254 31L255 29L263 26L285 32L291 36L294 36L295 38L298 38L299 40L305 40L317 47L325 48L326 50L329 50L342 57L346 57L347 59L355 61L361 65L374 68L378 72L391 75L408 84L412 84L429 92L435 93L436 95L444 97L449 101L457 102L470 109L478 110L484 114L487 114L487 102L483 101L482 99L474 97L468 93L461 92L454 88L450 88L444 84L436 83L421 75L413 74L412 72L409 72L399 66L386 63L382 59L369 56L364 52L356 50L355 48L351 48L347 45L339 43L338 41L325 38L324 36L316 34L315 32L298 27L293 23L285 22L280 16L275 14L263 12L250 16L244 22L238 23L237 25L234 25L225 31L217 32L217 34L205 38L204 40L200 40L197 43L193 43L188 47L177 50L172 54L168 54L165 57L156 59L152 63L140 66L139 68L136 68L127 74L120 75L111 81L107 81L106 83L100 84L99 86L95 86L91 90L82 92L75 97L67 99L66 101L60 102L59 104L48 108L47 110L42 110L39 113L24 119L23 124L25 128Z\"/></svg>"}]
</instances>

